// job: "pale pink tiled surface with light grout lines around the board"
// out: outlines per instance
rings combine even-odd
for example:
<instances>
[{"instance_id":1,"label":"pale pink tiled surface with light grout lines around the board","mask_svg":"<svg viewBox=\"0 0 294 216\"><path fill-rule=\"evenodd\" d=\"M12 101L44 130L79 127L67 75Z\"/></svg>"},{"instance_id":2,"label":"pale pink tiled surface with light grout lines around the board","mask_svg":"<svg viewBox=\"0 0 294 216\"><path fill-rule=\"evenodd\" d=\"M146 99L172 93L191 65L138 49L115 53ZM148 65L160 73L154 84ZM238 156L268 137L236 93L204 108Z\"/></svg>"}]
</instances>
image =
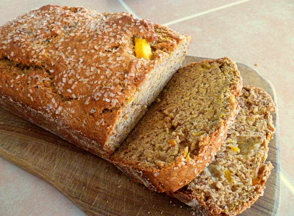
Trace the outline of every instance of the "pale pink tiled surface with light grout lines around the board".
<instances>
[{"instance_id":1,"label":"pale pink tiled surface with light grout lines around the board","mask_svg":"<svg viewBox=\"0 0 294 216\"><path fill-rule=\"evenodd\" d=\"M280 121L280 216L294 215L294 2L292 0L2 0L0 25L45 4L127 11L192 37L188 55L230 57L274 86ZM258 66L255 64L258 63ZM84 216L46 182L0 158L0 215Z\"/></svg>"}]
</instances>

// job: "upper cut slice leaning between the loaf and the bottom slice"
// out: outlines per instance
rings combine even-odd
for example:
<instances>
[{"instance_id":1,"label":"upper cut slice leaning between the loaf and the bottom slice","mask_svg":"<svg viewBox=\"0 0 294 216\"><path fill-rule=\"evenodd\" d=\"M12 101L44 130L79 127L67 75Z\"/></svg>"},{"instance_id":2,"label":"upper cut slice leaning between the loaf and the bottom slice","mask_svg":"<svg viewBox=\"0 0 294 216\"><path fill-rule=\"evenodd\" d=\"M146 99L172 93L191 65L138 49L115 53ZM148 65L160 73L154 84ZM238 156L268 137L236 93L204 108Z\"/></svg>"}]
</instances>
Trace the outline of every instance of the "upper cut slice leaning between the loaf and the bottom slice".
<instances>
[{"instance_id":1,"label":"upper cut slice leaning between the loaf and the bottom slice","mask_svg":"<svg viewBox=\"0 0 294 216\"><path fill-rule=\"evenodd\" d=\"M237 66L228 58L182 67L110 161L152 190L178 190L223 143L241 88Z\"/></svg>"}]
</instances>

